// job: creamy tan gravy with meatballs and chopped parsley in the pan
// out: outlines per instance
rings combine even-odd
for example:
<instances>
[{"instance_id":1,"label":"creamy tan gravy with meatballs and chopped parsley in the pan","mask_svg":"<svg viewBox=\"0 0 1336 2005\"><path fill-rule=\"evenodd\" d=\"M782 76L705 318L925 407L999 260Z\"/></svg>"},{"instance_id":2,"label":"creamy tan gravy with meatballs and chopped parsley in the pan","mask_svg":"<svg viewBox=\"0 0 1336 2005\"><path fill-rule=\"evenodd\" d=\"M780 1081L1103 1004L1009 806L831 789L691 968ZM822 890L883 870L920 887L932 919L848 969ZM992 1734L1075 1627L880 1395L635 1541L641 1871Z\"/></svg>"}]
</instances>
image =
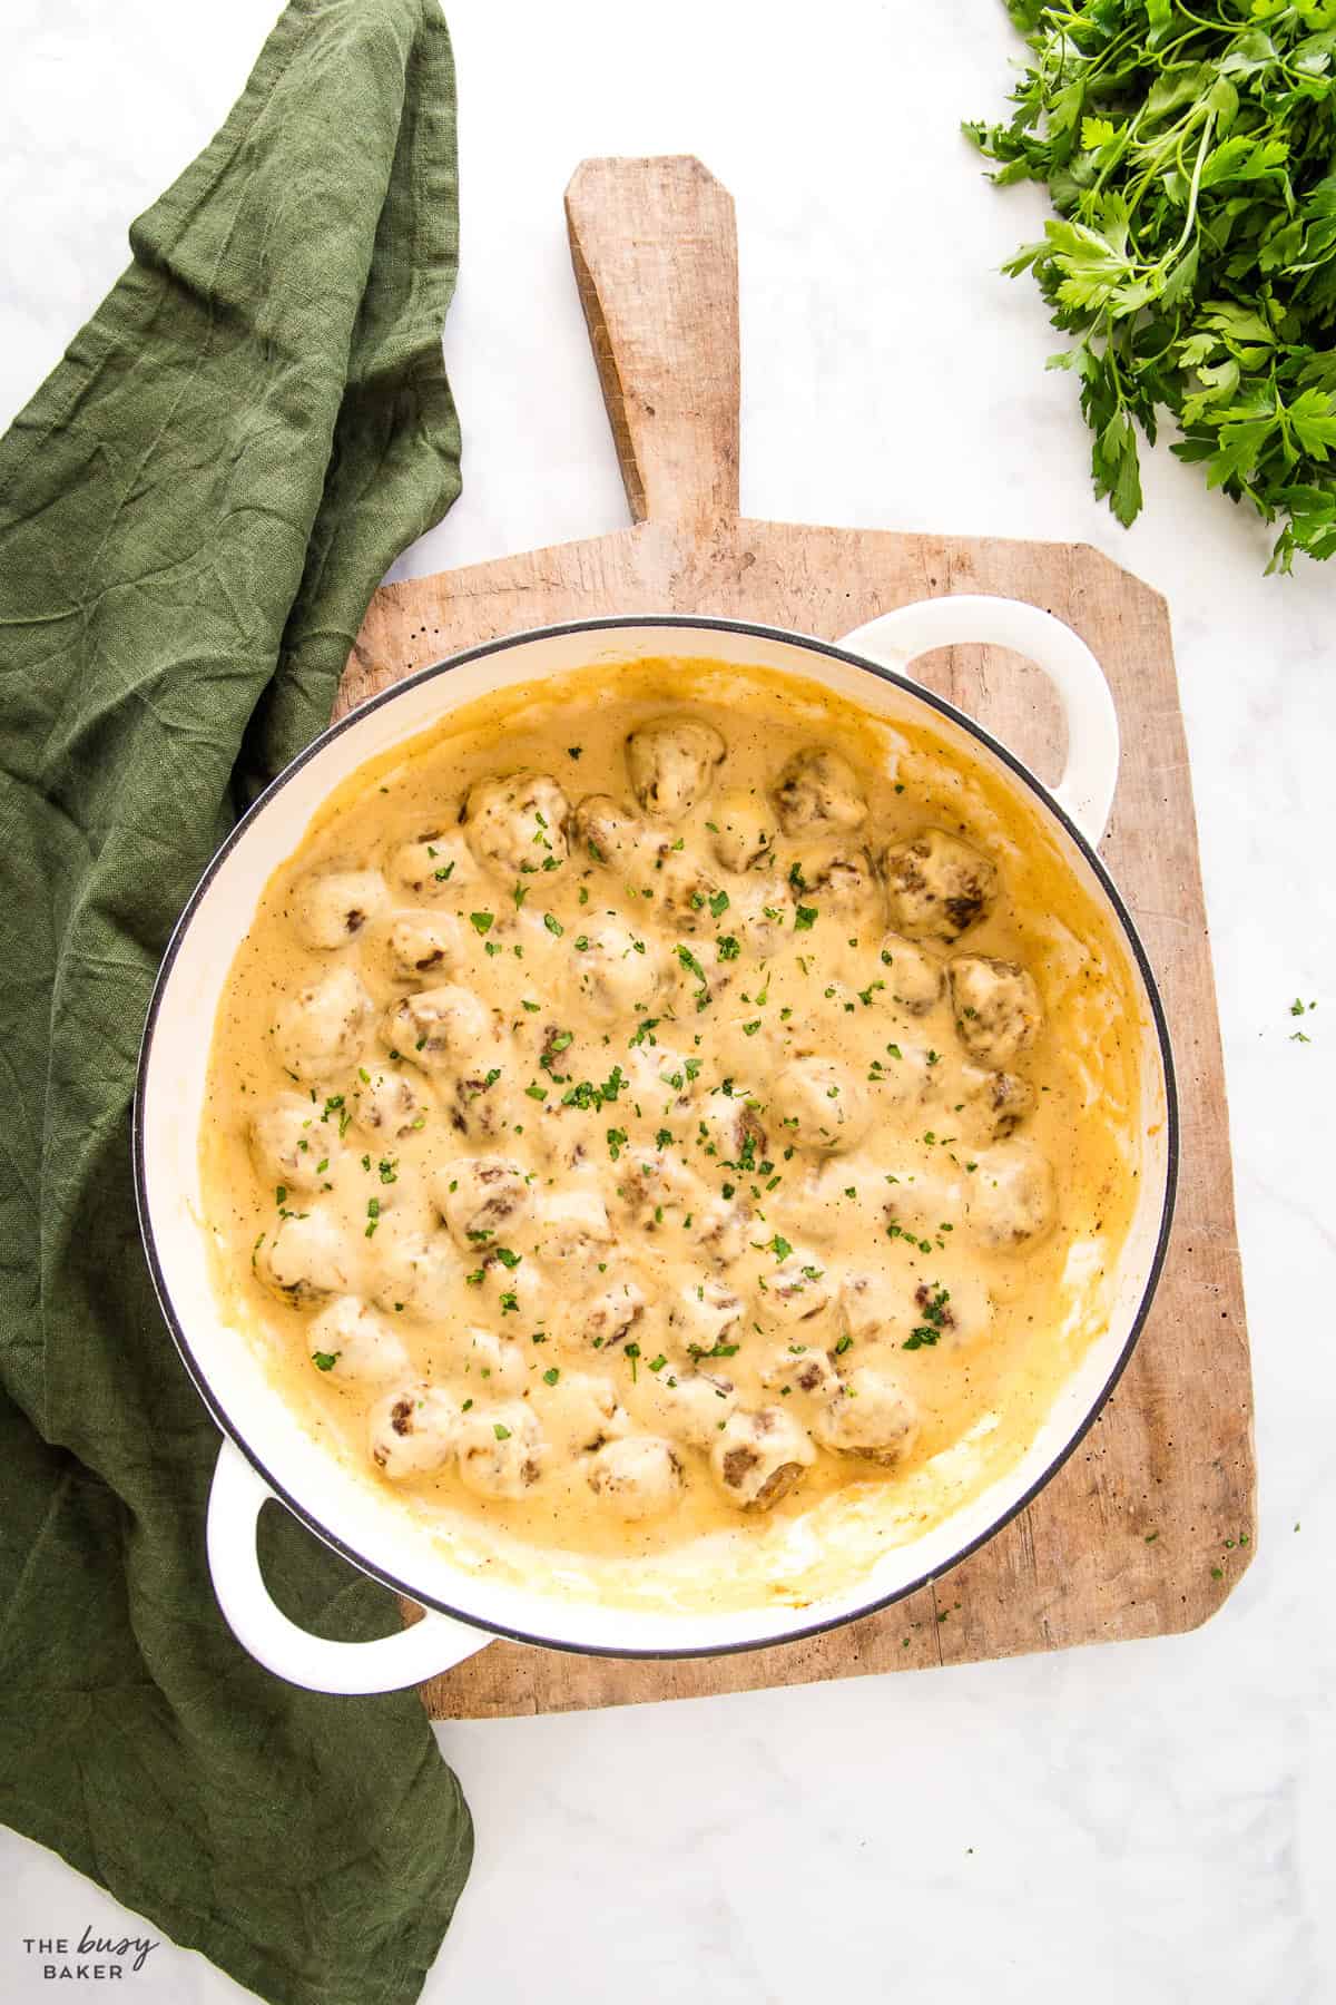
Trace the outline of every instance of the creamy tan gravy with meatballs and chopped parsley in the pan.
<instances>
[{"instance_id":1,"label":"creamy tan gravy with meatballs and chopped parsley in the pan","mask_svg":"<svg viewBox=\"0 0 1336 2005\"><path fill-rule=\"evenodd\" d=\"M801 1600L839 1568L789 1534L911 1536L1034 1440L1108 1311L1138 1047L1104 916L931 732L707 662L505 692L260 900L218 1293L461 1564Z\"/></svg>"}]
</instances>

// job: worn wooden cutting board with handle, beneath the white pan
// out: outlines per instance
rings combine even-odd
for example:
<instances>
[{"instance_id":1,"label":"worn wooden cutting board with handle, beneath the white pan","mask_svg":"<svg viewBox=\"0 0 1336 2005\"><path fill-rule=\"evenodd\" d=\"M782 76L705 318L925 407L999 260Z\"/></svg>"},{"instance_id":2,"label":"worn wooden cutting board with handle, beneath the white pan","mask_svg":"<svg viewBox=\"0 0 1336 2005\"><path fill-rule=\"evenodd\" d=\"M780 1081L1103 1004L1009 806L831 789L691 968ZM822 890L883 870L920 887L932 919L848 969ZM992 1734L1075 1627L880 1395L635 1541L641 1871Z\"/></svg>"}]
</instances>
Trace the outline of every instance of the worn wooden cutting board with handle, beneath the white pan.
<instances>
[{"instance_id":1,"label":"worn wooden cutting board with handle, beneath the white pan","mask_svg":"<svg viewBox=\"0 0 1336 2005\"><path fill-rule=\"evenodd\" d=\"M1104 856L1164 990L1182 1185L1154 1311L1098 1426L1030 1510L933 1586L811 1642L741 1656L653 1664L495 1642L425 1686L427 1704L437 1718L563 1712L1194 1628L1252 1558L1256 1472L1220 1029L1164 599L1088 545L743 519L727 190L691 158L585 160L567 223L635 527L383 587L339 712L459 648L597 614L727 614L835 640L943 591L1048 608L1104 664L1122 720ZM1028 664L955 648L915 674L1042 776L1058 774L1058 710Z\"/></svg>"}]
</instances>

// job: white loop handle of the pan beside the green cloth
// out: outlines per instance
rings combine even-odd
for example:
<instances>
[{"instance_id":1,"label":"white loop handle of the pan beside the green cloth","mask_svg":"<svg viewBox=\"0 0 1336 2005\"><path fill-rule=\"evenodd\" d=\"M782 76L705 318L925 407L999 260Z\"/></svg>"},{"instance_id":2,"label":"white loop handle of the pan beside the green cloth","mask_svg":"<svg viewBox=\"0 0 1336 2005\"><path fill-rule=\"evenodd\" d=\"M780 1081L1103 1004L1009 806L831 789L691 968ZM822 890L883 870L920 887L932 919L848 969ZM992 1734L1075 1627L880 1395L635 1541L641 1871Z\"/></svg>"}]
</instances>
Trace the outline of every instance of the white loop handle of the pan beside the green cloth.
<instances>
[{"instance_id":1,"label":"white loop handle of the pan beside the green cloth","mask_svg":"<svg viewBox=\"0 0 1336 2005\"><path fill-rule=\"evenodd\" d=\"M272 1496L264 1478L224 1442L208 1496L208 1570L228 1628L274 1676L308 1692L397 1692L461 1664L493 1640L487 1630L431 1610L375 1642L328 1642L288 1622L264 1586L254 1544L260 1510Z\"/></svg>"}]
</instances>

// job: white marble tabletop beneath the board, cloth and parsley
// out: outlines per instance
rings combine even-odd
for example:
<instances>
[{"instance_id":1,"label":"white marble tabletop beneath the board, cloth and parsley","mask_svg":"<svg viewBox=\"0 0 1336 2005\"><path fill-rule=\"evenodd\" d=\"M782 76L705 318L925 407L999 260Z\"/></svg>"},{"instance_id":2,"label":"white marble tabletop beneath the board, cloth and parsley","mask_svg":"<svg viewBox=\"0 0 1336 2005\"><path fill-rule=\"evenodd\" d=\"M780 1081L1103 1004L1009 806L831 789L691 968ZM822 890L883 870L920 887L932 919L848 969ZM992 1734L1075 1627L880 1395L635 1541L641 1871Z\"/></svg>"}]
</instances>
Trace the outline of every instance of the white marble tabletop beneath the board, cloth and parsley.
<instances>
[{"instance_id":1,"label":"white marble tabletop beneath the board, cloth and parsley","mask_svg":"<svg viewBox=\"0 0 1336 2005\"><path fill-rule=\"evenodd\" d=\"M0 419L118 273L126 221L226 112L270 16L272 0L8 0ZM1054 337L995 275L1042 205L993 194L955 132L1001 102L999 0L455 0L451 24L465 495L405 567L623 523L561 190L583 154L695 150L737 196L749 513L1090 539L1168 593L1262 1516L1238 1594L1180 1640L445 1728L479 1853L427 1999L1320 2005L1336 1995L1336 563L1262 577L1264 533L1164 449L1130 535L1092 501L1072 383L1044 373ZM1290 1041L1294 994L1320 1000L1310 1045ZM48 1997L20 1937L84 1921L126 1927L0 1835L0 1993ZM242 1997L166 1945L132 1985L144 2005Z\"/></svg>"}]
</instances>

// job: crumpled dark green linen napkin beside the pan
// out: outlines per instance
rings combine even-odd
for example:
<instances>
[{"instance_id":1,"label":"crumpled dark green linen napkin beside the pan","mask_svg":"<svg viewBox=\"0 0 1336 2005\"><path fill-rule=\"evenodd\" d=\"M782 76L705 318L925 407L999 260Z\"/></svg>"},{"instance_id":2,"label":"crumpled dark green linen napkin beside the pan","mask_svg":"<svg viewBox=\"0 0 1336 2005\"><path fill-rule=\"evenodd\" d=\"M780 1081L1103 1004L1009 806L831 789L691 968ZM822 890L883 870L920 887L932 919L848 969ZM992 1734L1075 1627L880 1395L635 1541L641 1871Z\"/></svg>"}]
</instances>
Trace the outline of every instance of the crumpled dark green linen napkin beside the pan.
<instances>
[{"instance_id":1,"label":"crumpled dark green linen napkin beside the pan","mask_svg":"<svg viewBox=\"0 0 1336 2005\"><path fill-rule=\"evenodd\" d=\"M130 243L0 441L0 1817L266 1999L399 2005L469 1813L415 1694L298 1692L218 1616L128 1117L176 912L459 491L437 0L294 0ZM262 1546L296 1620L395 1628L286 1514Z\"/></svg>"}]
</instances>

